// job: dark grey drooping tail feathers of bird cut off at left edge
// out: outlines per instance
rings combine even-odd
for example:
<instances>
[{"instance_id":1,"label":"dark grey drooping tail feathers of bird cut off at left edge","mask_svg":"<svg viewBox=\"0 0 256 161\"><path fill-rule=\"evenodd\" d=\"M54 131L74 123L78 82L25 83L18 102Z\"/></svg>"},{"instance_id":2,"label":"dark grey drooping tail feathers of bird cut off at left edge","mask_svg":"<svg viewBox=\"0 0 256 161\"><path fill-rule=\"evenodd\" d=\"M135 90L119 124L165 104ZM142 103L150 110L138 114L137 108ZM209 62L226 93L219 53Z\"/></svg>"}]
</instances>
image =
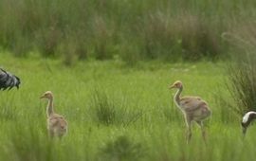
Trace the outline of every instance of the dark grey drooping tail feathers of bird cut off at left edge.
<instances>
[{"instance_id":1,"label":"dark grey drooping tail feathers of bird cut off at left edge","mask_svg":"<svg viewBox=\"0 0 256 161\"><path fill-rule=\"evenodd\" d=\"M21 83L21 81L17 76L0 68L0 90L4 91L8 88L10 90L14 86L19 88L20 83Z\"/></svg>"}]
</instances>

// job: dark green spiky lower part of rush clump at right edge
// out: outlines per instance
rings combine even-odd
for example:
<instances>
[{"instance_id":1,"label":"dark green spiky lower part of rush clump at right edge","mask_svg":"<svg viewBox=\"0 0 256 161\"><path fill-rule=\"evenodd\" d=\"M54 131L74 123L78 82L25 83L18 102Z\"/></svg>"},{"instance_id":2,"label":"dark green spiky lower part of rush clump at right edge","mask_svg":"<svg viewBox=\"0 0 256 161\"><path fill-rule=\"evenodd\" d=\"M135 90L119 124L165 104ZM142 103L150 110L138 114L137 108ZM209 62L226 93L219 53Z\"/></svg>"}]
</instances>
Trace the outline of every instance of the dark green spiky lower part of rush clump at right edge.
<instances>
[{"instance_id":1,"label":"dark green spiky lower part of rush clump at right edge","mask_svg":"<svg viewBox=\"0 0 256 161\"><path fill-rule=\"evenodd\" d=\"M253 56L255 57L255 56ZM229 92L240 115L256 111L256 59L241 60L229 66Z\"/></svg>"}]
</instances>

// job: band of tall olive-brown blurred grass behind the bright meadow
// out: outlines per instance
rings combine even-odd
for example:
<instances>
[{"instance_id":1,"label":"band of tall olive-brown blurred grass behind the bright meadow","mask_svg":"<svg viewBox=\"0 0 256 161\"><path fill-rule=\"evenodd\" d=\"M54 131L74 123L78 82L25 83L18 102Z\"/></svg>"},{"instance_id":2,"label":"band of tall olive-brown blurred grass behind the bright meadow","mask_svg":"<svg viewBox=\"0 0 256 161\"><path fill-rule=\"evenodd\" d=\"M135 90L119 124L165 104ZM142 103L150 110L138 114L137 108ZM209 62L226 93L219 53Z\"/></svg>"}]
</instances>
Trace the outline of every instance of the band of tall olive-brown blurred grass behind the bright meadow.
<instances>
[{"instance_id":1,"label":"band of tall olive-brown blurred grass behind the bright meadow","mask_svg":"<svg viewBox=\"0 0 256 161\"><path fill-rule=\"evenodd\" d=\"M215 60L227 55L221 35L255 18L255 3L228 0L0 2L0 45L16 56L78 60ZM226 55L226 56L225 56Z\"/></svg>"}]
</instances>

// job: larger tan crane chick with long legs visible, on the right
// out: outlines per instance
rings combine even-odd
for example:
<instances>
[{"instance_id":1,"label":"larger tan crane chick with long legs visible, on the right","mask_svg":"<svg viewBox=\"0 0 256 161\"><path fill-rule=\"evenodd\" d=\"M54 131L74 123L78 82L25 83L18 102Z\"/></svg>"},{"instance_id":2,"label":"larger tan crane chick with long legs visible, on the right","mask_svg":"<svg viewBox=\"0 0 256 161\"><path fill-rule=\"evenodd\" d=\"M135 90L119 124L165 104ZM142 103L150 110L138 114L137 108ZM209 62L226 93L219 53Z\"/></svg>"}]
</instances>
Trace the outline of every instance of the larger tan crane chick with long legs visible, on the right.
<instances>
[{"instance_id":1,"label":"larger tan crane chick with long legs visible, on the right","mask_svg":"<svg viewBox=\"0 0 256 161\"><path fill-rule=\"evenodd\" d=\"M187 142L189 143L192 137L192 121L195 121L201 128L201 133L204 141L206 141L206 133L203 125L203 120L211 114L210 108L205 100L199 97L180 97L183 90L183 85L180 80L174 81L170 89L176 88L177 92L174 95L176 106L182 111L187 125Z\"/></svg>"}]
</instances>

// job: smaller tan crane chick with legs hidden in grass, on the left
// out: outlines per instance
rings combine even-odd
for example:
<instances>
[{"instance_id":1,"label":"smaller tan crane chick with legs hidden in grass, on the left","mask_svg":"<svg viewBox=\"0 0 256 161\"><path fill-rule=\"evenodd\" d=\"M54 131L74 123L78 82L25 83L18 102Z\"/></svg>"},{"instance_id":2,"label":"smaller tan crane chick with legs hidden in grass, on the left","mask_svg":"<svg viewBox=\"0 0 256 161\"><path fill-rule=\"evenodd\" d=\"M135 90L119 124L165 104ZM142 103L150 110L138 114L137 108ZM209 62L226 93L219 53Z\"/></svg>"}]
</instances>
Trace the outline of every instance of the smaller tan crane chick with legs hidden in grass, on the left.
<instances>
[{"instance_id":1,"label":"smaller tan crane chick with legs hidden in grass, on the left","mask_svg":"<svg viewBox=\"0 0 256 161\"><path fill-rule=\"evenodd\" d=\"M48 99L48 104L46 107L48 134L51 137L53 136L62 137L64 134L67 133L67 122L64 119L64 116L54 113L52 92L46 91L46 93L41 98Z\"/></svg>"}]
</instances>

